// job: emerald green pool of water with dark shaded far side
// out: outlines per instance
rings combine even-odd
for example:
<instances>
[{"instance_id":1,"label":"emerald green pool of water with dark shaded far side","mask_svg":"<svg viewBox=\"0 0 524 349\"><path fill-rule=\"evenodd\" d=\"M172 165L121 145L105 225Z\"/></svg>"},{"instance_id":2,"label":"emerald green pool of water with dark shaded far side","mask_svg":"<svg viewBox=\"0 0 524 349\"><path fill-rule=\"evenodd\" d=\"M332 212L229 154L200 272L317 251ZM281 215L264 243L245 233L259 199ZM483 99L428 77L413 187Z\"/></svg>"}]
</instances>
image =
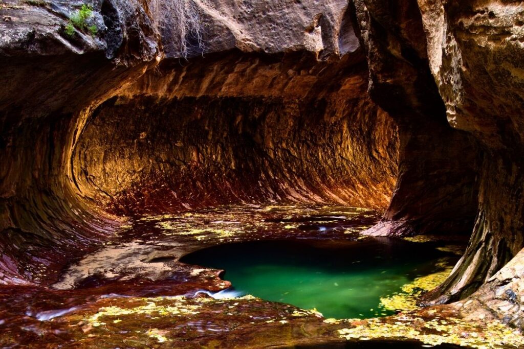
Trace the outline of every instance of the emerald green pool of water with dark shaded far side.
<instances>
[{"instance_id":1,"label":"emerald green pool of water with dark shaded far side","mask_svg":"<svg viewBox=\"0 0 524 349\"><path fill-rule=\"evenodd\" d=\"M398 239L254 241L217 245L181 262L224 269L237 291L320 311L326 318L387 316L380 298L438 271L450 254ZM441 269L440 269L441 270Z\"/></svg>"}]
</instances>

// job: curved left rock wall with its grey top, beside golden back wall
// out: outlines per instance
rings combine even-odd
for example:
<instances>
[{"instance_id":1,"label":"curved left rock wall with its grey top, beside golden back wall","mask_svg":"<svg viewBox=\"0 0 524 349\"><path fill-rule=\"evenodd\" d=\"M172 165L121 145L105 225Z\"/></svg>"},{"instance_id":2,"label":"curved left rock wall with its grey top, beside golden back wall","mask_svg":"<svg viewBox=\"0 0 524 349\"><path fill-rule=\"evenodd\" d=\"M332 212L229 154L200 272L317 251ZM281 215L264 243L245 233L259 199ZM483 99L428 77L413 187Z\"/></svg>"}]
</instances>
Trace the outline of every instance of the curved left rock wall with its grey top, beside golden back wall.
<instances>
[{"instance_id":1,"label":"curved left rock wall with its grey top, beside golden back wall","mask_svg":"<svg viewBox=\"0 0 524 349\"><path fill-rule=\"evenodd\" d=\"M118 225L78 196L71 152L90 106L153 65L158 38L136 1L93 5L93 23L108 29L68 37L71 5L0 9L2 283L42 282Z\"/></svg>"}]
</instances>

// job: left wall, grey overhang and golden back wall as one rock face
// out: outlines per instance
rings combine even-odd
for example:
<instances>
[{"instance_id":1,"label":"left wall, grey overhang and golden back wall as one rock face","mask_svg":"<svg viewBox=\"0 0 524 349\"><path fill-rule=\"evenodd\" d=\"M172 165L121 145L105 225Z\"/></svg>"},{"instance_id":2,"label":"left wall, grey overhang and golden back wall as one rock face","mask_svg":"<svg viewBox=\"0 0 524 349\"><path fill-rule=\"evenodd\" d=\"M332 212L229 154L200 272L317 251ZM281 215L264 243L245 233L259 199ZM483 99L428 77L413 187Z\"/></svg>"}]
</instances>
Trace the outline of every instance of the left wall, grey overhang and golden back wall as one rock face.
<instances>
[{"instance_id":1,"label":"left wall, grey overhang and golden back wall as one rock face","mask_svg":"<svg viewBox=\"0 0 524 349\"><path fill-rule=\"evenodd\" d=\"M387 205L397 129L345 1L195 2L184 36L152 3L84 3L96 35L65 31L80 3L1 9L2 283L52 282L111 213Z\"/></svg>"}]
</instances>

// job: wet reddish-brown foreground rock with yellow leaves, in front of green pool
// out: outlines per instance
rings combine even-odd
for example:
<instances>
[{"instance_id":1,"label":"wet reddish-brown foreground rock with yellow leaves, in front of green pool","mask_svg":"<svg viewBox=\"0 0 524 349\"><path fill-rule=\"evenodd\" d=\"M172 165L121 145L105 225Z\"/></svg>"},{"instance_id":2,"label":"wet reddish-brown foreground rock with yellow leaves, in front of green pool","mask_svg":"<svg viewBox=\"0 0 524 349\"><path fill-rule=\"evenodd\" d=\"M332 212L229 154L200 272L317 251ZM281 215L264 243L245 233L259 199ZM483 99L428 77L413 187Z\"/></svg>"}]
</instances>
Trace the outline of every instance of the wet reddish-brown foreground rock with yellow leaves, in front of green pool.
<instances>
[{"instance_id":1,"label":"wet reddish-brown foreground rock with yellow leaves, in front of green pool","mask_svg":"<svg viewBox=\"0 0 524 349\"><path fill-rule=\"evenodd\" d=\"M18 291L27 292L23 288ZM41 293L33 294L48 300ZM4 297L3 297L4 298ZM12 298L7 298L12 300ZM5 317L5 345L33 347L292 347L339 343L362 347L375 340L377 347L438 345L472 348L519 348L522 336L493 320L462 319L449 307L403 313L382 320L323 319L317 313L282 303L244 297L212 298L106 296L79 308L34 316ZM5 314L4 314L5 315ZM348 341L348 342L346 342ZM373 343L373 342L371 342ZM366 346L364 346L366 347ZM370 346L373 347L373 346ZM448 346L444 346L448 347Z\"/></svg>"}]
</instances>

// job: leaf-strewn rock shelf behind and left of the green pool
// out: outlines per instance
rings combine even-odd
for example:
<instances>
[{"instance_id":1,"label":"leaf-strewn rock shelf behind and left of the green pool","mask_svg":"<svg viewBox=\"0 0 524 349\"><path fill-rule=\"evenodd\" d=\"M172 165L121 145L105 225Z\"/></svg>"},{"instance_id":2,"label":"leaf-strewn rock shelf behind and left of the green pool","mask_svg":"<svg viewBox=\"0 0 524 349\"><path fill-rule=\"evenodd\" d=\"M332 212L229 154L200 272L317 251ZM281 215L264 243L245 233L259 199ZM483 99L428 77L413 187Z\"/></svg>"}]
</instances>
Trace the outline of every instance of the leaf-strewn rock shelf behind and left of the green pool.
<instances>
[{"instance_id":1,"label":"leaf-strewn rock shelf behind and left of the green pool","mask_svg":"<svg viewBox=\"0 0 524 349\"><path fill-rule=\"evenodd\" d=\"M227 288L231 285L219 280L220 271L185 265L179 258L219 243L354 240L358 231L371 226L377 217L375 211L311 205L226 206L144 216L126 225L100 250L72 264L51 287L83 288L137 279L170 280L173 284L209 279L214 288Z\"/></svg>"}]
</instances>

